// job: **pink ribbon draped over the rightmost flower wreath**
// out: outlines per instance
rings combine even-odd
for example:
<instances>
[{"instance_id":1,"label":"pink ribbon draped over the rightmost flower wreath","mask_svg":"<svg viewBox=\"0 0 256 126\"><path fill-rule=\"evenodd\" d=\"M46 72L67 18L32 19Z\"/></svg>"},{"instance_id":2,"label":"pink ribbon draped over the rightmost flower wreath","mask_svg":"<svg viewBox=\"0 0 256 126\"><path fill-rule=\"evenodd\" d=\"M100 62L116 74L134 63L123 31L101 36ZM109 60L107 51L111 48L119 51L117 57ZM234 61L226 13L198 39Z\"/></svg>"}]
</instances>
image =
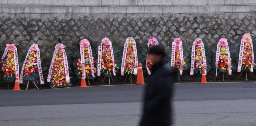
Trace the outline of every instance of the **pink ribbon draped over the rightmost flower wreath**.
<instances>
[{"instance_id":1,"label":"pink ribbon draped over the rightmost flower wreath","mask_svg":"<svg viewBox=\"0 0 256 126\"><path fill-rule=\"evenodd\" d=\"M253 72L253 65L254 65L254 51L253 51L253 45L252 45L252 37L251 34L246 33L243 35L243 38L241 40L241 45L240 45L240 52L239 52L239 61L238 61L238 68L237 71L241 72L241 67L242 67L242 59L243 59L243 53L244 53L244 43L250 41L250 44L252 46L252 64L251 64L251 72Z\"/></svg>"}]
</instances>

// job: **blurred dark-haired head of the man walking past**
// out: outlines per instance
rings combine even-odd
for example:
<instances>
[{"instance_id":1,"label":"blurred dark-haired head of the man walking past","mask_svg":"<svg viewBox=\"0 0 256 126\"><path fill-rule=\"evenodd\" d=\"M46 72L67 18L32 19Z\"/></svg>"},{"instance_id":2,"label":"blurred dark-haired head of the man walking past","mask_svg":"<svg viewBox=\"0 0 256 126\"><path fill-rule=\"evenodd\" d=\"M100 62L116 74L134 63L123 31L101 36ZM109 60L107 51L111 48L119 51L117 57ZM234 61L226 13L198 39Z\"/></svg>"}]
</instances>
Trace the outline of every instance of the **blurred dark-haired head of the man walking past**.
<instances>
[{"instance_id":1,"label":"blurred dark-haired head of the man walking past","mask_svg":"<svg viewBox=\"0 0 256 126\"><path fill-rule=\"evenodd\" d=\"M164 57L164 48L160 45L152 45L149 49L150 56L148 57L153 64L158 63Z\"/></svg>"}]
</instances>

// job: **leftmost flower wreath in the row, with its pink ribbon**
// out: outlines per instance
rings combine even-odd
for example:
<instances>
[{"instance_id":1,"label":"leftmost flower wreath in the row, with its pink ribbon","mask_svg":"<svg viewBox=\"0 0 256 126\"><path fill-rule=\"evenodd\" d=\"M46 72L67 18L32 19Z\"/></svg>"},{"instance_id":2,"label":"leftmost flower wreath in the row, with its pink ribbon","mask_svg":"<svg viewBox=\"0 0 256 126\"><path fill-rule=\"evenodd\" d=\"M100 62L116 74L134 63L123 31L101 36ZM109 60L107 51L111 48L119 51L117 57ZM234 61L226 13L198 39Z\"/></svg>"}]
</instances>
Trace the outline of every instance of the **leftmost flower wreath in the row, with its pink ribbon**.
<instances>
[{"instance_id":1,"label":"leftmost flower wreath in the row, with its pink ribbon","mask_svg":"<svg viewBox=\"0 0 256 126\"><path fill-rule=\"evenodd\" d=\"M4 55L0 61L3 72L1 75L4 76L6 82L10 83L15 81L16 75L19 76L18 52L14 44L6 44L2 49L4 49Z\"/></svg>"}]
</instances>

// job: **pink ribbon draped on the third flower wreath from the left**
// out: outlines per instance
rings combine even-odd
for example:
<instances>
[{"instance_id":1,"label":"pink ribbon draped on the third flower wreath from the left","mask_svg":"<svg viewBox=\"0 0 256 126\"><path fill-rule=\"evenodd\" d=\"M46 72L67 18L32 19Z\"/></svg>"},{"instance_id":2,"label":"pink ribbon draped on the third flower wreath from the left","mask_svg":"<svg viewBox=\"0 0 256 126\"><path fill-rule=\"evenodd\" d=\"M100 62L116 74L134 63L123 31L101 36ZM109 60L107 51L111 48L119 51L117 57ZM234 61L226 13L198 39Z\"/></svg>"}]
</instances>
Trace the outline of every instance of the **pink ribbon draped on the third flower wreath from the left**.
<instances>
[{"instance_id":1,"label":"pink ribbon draped on the third flower wreath from the left","mask_svg":"<svg viewBox=\"0 0 256 126\"><path fill-rule=\"evenodd\" d=\"M62 51L63 60L64 60L64 67L65 67L64 69L65 69L65 74L66 74L66 81L67 81L67 83L70 83L69 71L68 71L68 59L67 59L67 55L66 55L66 51L65 51L64 47L65 47L65 45L63 45L61 43L58 43L55 46L55 50L54 50L54 54L53 54L53 57L52 57L52 63L50 65L50 70L49 70L47 82L51 81L52 68L53 68L53 65L54 65L54 60L55 60L56 54L57 54L58 51Z\"/></svg>"}]
</instances>

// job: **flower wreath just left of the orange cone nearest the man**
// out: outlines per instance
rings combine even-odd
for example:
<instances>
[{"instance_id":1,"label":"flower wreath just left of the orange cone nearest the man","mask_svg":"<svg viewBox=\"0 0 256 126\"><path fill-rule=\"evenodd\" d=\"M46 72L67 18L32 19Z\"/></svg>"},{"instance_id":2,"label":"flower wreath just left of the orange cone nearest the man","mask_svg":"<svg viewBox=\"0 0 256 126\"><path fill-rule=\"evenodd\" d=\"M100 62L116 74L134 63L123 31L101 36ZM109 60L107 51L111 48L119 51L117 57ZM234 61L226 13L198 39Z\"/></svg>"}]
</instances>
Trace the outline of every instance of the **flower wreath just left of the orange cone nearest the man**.
<instances>
[{"instance_id":1,"label":"flower wreath just left of the orange cone nearest the man","mask_svg":"<svg viewBox=\"0 0 256 126\"><path fill-rule=\"evenodd\" d=\"M134 38L128 37L124 42L124 51L121 65L121 75L130 73L137 75L138 72L138 54Z\"/></svg>"}]
</instances>

